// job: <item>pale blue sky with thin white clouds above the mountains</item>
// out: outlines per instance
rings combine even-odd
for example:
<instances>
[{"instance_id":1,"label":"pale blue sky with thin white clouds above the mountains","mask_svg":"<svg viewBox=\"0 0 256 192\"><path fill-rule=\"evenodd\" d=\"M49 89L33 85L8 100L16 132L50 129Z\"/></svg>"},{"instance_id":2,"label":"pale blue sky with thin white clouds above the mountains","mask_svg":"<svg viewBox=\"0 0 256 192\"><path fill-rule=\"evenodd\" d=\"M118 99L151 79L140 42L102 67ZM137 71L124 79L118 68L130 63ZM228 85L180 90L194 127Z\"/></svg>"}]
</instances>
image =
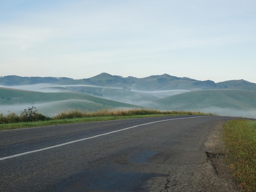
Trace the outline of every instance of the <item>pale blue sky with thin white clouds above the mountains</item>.
<instances>
[{"instance_id":1,"label":"pale blue sky with thin white clouds above the mountains","mask_svg":"<svg viewBox=\"0 0 256 192\"><path fill-rule=\"evenodd\" d=\"M256 0L0 0L0 66L256 83Z\"/></svg>"}]
</instances>

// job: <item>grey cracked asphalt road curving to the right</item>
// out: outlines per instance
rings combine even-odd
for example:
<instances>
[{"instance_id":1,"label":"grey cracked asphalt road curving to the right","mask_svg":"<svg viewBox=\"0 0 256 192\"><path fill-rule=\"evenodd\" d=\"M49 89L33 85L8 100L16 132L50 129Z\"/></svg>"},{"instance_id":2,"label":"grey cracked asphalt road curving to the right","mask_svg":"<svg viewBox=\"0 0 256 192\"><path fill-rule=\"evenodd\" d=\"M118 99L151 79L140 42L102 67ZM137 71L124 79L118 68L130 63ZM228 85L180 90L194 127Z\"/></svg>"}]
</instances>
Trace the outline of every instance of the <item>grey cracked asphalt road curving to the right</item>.
<instances>
[{"instance_id":1,"label":"grey cracked asphalt road curving to the right","mask_svg":"<svg viewBox=\"0 0 256 192\"><path fill-rule=\"evenodd\" d=\"M0 191L179 191L189 182L199 191L186 177L207 161L205 142L228 119L165 116L1 131Z\"/></svg>"}]
</instances>

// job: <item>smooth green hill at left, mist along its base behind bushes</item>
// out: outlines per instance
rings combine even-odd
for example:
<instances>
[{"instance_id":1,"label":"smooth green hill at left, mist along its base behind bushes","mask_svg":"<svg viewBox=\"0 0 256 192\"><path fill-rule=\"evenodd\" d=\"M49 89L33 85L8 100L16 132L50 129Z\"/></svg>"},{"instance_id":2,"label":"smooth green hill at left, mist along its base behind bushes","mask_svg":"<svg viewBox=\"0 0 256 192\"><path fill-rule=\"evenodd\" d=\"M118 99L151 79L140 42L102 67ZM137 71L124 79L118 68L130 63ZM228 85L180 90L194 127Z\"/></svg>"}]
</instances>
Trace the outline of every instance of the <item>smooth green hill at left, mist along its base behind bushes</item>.
<instances>
[{"instance_id":1,"label":"smooth green hill at left, mist along its base behind bushes","mask_svg":"<svg viewBox=\"0 0 256 192\"><path fill-rule=\"evenodd\" d=\"M20 112L32 105L40 113L47 115L58 114L68 109L97 111L139 107L82 93L44 93L0 88L0 113L8 110Z\"/></svg>"}]
</instances>

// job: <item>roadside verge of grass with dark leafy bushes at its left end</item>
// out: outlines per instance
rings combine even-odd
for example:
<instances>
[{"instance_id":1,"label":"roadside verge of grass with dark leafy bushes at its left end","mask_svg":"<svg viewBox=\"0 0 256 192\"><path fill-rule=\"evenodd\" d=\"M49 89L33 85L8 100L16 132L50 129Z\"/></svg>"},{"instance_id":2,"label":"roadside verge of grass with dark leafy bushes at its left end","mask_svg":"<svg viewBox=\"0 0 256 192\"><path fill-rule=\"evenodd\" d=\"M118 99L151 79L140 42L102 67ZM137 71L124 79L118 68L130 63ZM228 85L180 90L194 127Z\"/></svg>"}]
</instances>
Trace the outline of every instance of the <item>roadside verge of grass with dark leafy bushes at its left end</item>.
<instances>
[{"instance_id":1,"label":"roadside verge of grass with dark leafy bushes at its left end","mask_svg":"<svg viewBox=\"0 0 256 192\"><path fill-rule=\"evenodd\" d=\"M47 125L63 125L69 123L85 123L92 121L108 121L124 118L139 118L164 115L216 115L205 114L202 112L178 112L178 111L159 111L156 109L120 109L120 110L99 110L95 112L81 112L79 110L67 110L60 114L47 117L37 113L36 107L24 109L17 114L0 114L0 130L15 129L23 127L40 127Z\"/></svg>"}]
</instances>

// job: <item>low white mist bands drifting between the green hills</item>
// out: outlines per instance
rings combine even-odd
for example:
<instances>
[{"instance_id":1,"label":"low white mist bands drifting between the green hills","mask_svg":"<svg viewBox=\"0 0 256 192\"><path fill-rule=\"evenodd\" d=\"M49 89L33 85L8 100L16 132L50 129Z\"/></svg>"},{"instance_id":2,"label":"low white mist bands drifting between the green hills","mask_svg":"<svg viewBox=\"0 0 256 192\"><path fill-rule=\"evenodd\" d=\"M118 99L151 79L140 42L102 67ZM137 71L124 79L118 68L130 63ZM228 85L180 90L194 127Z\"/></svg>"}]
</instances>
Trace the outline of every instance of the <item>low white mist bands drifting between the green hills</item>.
<instances>
[{"instance_id":1,"label":"low white mist bands drifting between the green hills","mask_svg":"<svg viewBox=\"0 0 256 192\"><path fill-rule=\"evenodd\" d=\"M90 94L99 98L105 98L122 103L128 103L131 105L137 105L145 108L152 108L158 110L168 111L195 111L205 113L216 113L220 116L235 116L235 117L247 117L256 118L256 110L249 109L233 109L233 108L221 108L221 107L204 107L204 108L187 108L184 103L172 104L171 99L169 103L159 103L157 99L173 96L189 92L189 90L177 89L177 90L155 90L155 91L143 91L135 89L126 89L118 87L99 87L93 85L56 85L56 84L34 84L34 85L19 85L19 86L2 86L4 88L20 89L36 92L77 92L80 94ZM83 92L81 92L83 91ZM14 97L13 97L14 98ZM54 116L68 109L78 109L83 111L97 111L100 109L107 109L99 103L91 105L91 101L88 100L62 100L54 102L40 102L40 103L22 103L18 105L0 105L0 113L7 114L14 112L20 114L24 109L35 106L39 113ZM211 105L209 103L209 105ZM115 108L115 107L114 107Z\"/></svg>"}]
</instances>

